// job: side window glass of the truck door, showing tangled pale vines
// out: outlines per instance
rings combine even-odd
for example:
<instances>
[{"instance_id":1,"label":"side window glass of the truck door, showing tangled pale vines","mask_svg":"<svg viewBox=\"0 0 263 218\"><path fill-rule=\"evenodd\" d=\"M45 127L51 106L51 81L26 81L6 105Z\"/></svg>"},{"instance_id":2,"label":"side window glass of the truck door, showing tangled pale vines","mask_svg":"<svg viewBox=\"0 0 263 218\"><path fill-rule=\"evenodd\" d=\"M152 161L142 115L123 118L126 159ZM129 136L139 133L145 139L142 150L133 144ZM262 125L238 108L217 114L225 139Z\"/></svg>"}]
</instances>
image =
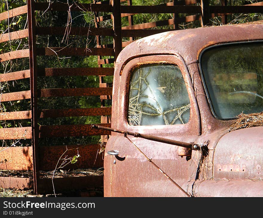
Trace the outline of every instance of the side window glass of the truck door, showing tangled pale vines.
<instances>
[{"instance_id":1,"label":"side window glass of the truck door, showing tangled pale vines","mask_svg":"<svg viewBox=\"0 0 263 218\"><path fill-rule=\"evenodd\" d=\"M189 116L190 100L178 66L152 64L134 70L129 91L129 125L185 124Z\"/></svg>"}]
</instances>

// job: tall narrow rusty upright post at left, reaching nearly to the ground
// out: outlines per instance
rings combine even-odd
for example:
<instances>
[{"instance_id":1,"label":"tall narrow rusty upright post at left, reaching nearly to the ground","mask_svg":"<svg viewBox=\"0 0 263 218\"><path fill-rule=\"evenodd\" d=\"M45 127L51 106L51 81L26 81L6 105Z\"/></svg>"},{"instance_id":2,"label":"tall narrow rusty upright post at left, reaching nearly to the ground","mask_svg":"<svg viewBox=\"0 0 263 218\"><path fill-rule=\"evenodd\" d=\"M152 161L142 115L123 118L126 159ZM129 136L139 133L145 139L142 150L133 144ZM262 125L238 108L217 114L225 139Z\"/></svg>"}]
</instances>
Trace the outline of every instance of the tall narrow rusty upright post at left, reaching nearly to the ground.
<instances>
[{"instance_id":1,"label":"tall narrow rusty upright post at left, reaching nearly to the ground","mask_svg":"<svg viewBox=\"0 0 263 218\"><path fill-rule=\"evenodd\" d=\"M33 150L33 180L34 192L37 194L39 181L39 158L38 158L38 136L37 124L37 74L36 74L36 27L34 0L27 1L28 16L28 39L29 39L29 66L30 66L30 90L31 90L31 113L32 113L32 150Z\"/></svg>"}]
</instances>

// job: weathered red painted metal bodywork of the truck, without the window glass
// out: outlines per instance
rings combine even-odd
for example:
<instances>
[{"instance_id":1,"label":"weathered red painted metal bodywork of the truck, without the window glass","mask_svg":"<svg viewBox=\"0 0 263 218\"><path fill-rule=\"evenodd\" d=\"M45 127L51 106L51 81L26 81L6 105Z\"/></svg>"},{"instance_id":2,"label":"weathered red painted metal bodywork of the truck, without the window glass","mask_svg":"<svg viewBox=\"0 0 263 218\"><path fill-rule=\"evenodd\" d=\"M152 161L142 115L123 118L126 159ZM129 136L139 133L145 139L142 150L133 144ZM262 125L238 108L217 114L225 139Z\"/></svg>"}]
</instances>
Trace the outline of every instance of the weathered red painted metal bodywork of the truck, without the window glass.
<instances>
[{"instance_id":1,"label":"weathered red painted metal bodywork of the truck, without the window glass","mask_svg":"<svg viewBox=\"0 0 263 218\"><path fill-rule=\"evenodd\" d=\"M253 8L251 8L253 10ZM126 46L116 60L111 128L160 136L201 145L208 156L192 150L191 159L177 146L127 136L191 196L263 196L262 127L231 131L231 120L213 116L204 90L198 58L215 44L263 40L263 24L250 23L177 30L139 39ZM130 126L127 121L131 72L147 63L180 67L191 103L185 125ZM107 151L119 151L119 157ZM179 156L180 155L180 156ZM198 167L202 161L201 168ZM186 196L151 166L121 133L112 132L105 148L104 196Z\"/></svg>"}]
</instances>

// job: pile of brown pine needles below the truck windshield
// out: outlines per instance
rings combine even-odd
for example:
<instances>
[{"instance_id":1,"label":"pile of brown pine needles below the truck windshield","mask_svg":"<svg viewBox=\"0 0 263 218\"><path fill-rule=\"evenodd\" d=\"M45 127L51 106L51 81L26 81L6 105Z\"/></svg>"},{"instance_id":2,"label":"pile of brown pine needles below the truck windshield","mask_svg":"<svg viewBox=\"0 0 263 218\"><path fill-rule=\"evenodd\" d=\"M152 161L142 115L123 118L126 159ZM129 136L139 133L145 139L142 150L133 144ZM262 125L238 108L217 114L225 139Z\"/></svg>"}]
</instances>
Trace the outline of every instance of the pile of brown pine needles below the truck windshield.
<instances>
[{"instance_id":1,"label":"pile of brown pine needles below the truck windshield","mask_svg":"<svg viewBox=\"0 0 263 218\"><path fill-rule=\"evenodd\" d=\"M230 126L229 131L249 128L254 126L263 126L263 112L244 114L240 113Z\"/></svg>"}]
</instances>

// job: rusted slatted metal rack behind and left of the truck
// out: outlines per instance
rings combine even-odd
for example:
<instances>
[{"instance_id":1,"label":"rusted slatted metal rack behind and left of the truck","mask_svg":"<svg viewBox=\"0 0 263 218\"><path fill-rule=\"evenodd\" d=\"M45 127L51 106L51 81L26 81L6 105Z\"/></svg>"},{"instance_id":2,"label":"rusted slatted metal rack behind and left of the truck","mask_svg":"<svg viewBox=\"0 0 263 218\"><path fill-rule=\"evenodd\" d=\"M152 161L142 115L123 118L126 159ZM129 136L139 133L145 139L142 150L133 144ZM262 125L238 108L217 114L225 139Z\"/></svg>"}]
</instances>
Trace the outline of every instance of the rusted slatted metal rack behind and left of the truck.
<instances>
[{"instance_id":1,"label":"rusted slatted metal rack behind and left of the truck","mask_svg":"<svg viewBox=\"0 0 263 218\"><path fill-rule=\"evenodd\" d=\"M248 5L247 5L248 6ZM0 177L0 186L4 188L34 188L36 193L53 190L50 178L40 176L42 171L52 171L56 168L58 160L62 162L64 157L72 157L79 153L81 158L71 169L79 168L100 168L103 167L103 152L98 153L100 145L53 145L52 141L45 141L47 138L85 137L101 136L101 143L107 141L109 131L91 128L90 124L61 124L61 125L39 125L41 119L57 119L60 117L81 117L81 116L101 116L101 125L110 127L111 107L105 105L105 100L111 99L112 82L105 82L105 76L112 76L114 64L118 54L123 47L138 39L138 37L149 36L170 30L178 30L180 23L201 21L200 25L209 24L210 18L220 16L221 23L227 23L227 14L233 13L261 13L263 2L250 4L247 6L227 6L227 1L222 0L221 5L209 5L207 0L178 0L171 1L163 5L141 6L132 5L132 0L111 0L93 2L92 4L68 4L63 3L40 3L28 1L27 5L5 11L0 14L0 21L9 20L15 16L27 14L28 27L23 30L7 32L0 35L0 43L12 42L15 39L28 37L29 47L22 50L12 50L7 53L0 53L0 62L8 62L14 59L29 59L28 69L15 72L1 72L0 82L28 79L28 90L19 92L1 93L1 107L3 102L27 101L27 110L12 111L1 109L0 119L7 120L29 119L30 125L12 128L1 128L0 139L4 140L30 140L27 146L2 146L0 151L0 169L14 171L32 171L31 177ZM37 11L80 11L94 12L95 28L90 27L40 27L36 25L35 14ZM104 14L103 14L104 13ZM171 19L134 24L134 15L138 13L169 13ZM179 16L179 14L186 14ZM122 25L122 19L128 19L128 26ZM110 21L111 28L101 27L101 23ZM155 28L166 26L167 28ZM94 36L97 47L38 47L36 37L38 36ZM102 37L111 37L113 43L105 44ZM97 56L97 67L41 67L38 65L39 57L49 56ZM105 67L107 66L107 67ZM38 87L38 80L41 78L53 78L72 76L98 76L99 87L81 88L43 88ZM14 83L15 84L15 83ZM100 107L97 108L45 108L45 101L54 97L74 97L74 96L100 96ZM50 99L49 99L50 98ZM41 107L38 106L41 102ZM43 103L44 102L44 103ZM43 106L44 105L44 106ZM15 141L16 140L16 141ZM42 141L41 141L42 140ZM65 141L65 140L64 140ZM41 142L41 143L40 143ZM48 144L49 142L49 144ZM40 145L41 144L41 145ZM44 144L44 145L43 145ZM4 143L3 143L4 145ZM63 155L62 155L63 154ZM69 165L65 169L69 168ZM64 169L64 168L63 168ZM81 176L55 178L53 182L56 188L72 189L83 187L103 186L103 176Z\"/></svg>"}]
</instances>

